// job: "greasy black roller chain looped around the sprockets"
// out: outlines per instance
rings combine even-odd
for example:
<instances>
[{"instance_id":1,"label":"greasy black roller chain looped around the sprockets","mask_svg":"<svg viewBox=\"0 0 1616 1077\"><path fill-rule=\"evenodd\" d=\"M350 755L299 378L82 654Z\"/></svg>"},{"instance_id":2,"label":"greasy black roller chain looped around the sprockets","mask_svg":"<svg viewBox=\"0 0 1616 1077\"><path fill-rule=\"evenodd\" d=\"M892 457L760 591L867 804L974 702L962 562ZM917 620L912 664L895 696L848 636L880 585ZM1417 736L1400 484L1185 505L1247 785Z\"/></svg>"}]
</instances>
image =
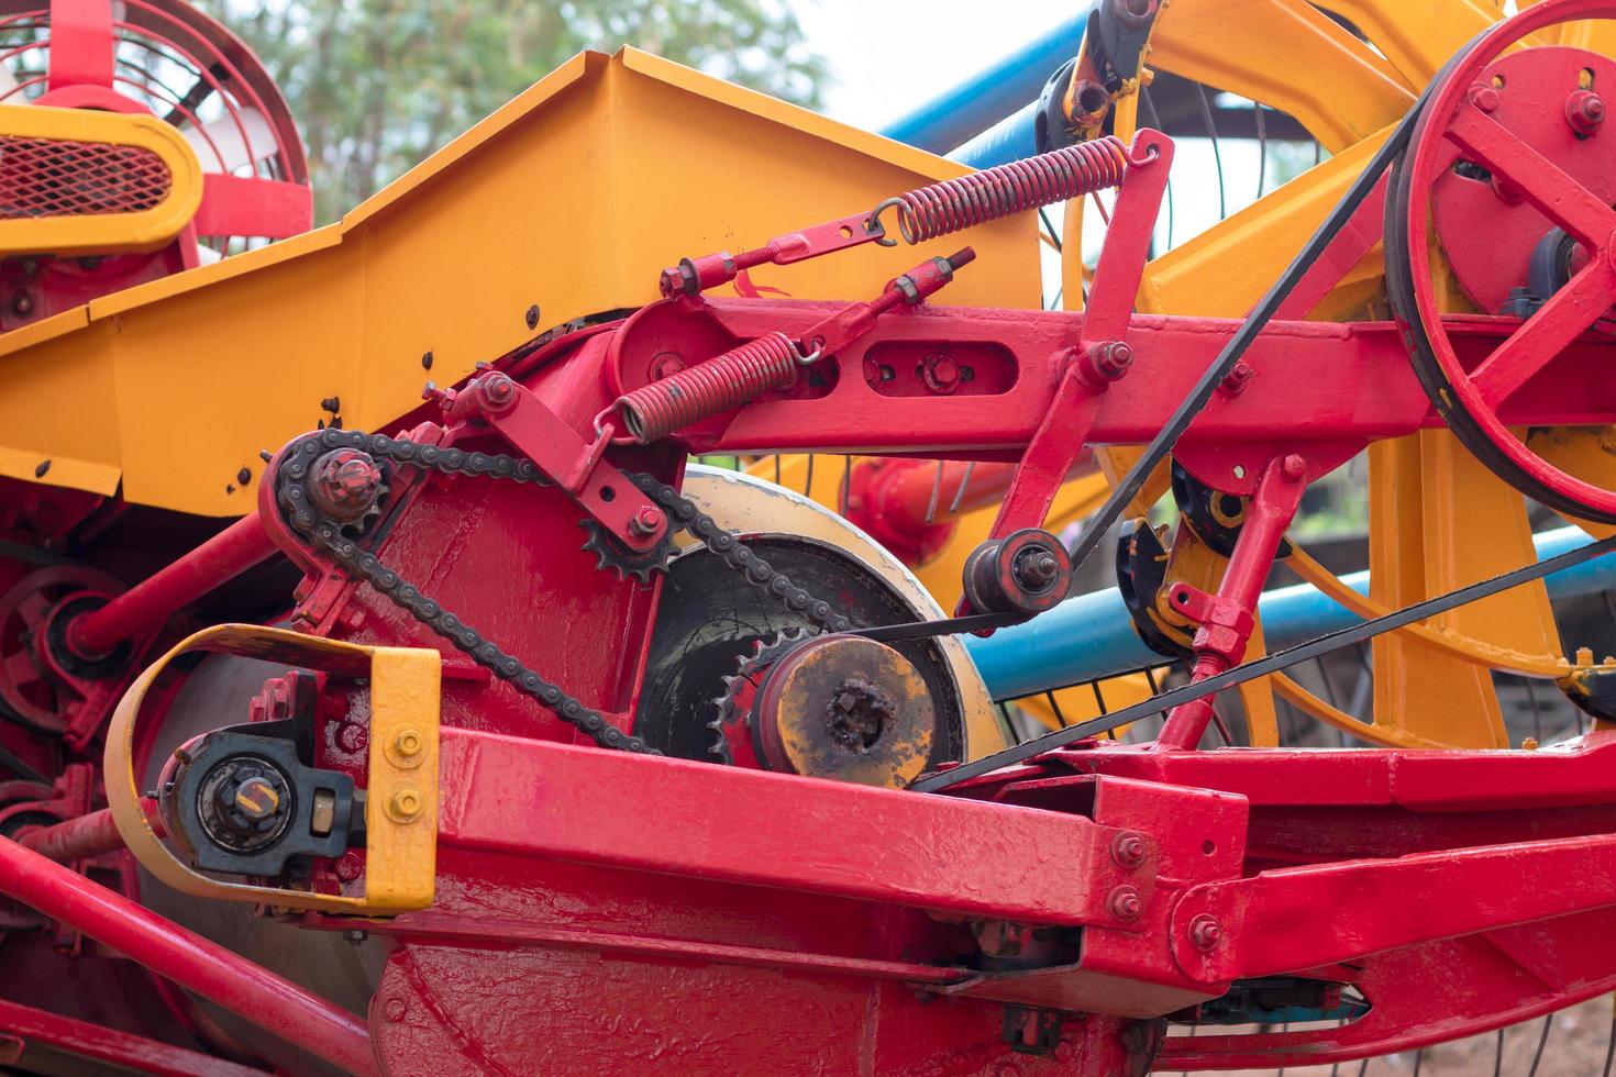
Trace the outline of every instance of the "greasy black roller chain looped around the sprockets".
<instances>
[{"instance_id":1,"label":"greasy black roller chain looped around the sprockets","mask_svg":"<svg viewBox=\"0 0 1616 1077\"><path fill-rule=\"evenodd\" d=\"M444 475L499 478L549 486L549 480L545 478L543 471L532 460L420 446L412 441L399 441L383 434L364 434L351 430L323 430L307 434L292 447L280 467L280 489L276 492L291 525L301 534L320 546L352 575L386 596L394 606L406 609L415 620L452 643L459 651L464 651L478 665L486 667L494 677L538 701L562 722L583 730L601 748L650 756L661 754L638 736L619 730L600 710L569 696L558 685L545 680L516 656L485 639L475 628L422 594L420 588L407 583L399 573L383 565L375 554L360 549L359 543L343 533L341 523L322 518L309 501L304 480L315 459L331 449L357 449L396 465ZM829 602L813 597L784 573L776 572L764 559L758 557L734 534L719 526L716 520L696 509L695 502L688 497L680 496L679 491L666 483L658 483L650 475L630 471L627 476L646 496L663 505L669 515L671 526L688 530L695 538L706 543L713 552L724 559L724 564L740 572L747 583L779 599L787 609L803 614L823 631L847 631L850 627L847 617L835 612Z\"/></svg>"}]
</instances>

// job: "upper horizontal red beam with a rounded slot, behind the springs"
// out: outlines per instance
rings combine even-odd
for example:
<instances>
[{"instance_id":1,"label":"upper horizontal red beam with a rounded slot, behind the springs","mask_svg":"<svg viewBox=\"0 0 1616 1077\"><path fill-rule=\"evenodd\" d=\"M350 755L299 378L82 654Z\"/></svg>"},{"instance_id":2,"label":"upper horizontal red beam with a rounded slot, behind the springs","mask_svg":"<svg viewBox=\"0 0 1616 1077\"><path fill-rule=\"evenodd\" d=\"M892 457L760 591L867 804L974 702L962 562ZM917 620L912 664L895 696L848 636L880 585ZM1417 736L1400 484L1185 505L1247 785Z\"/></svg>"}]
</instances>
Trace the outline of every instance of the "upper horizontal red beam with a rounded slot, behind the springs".
<instances>
[{"instance_id":1,"label":"upper horizontal red beam with a rounded slot, behind the springs","mask_svg":"<svg viewBox=\"0 0 1616 1077\"><path fill-rule=\"evenodd\" d=\"M800 333L824 313L821 304L761 299L714 299L708 308L701 316L735 339ZM1092 428L1071 436L1089 444L1149 441L1238 326L1238 320L1223 318L1134 315L1125 334L1134 358L1131 371L1104 392ZM1514 318L1446 320L1466 357L1487 355L1517 326ZM663 328L666 339L624 337L617 344L625 355L621 362L640 362L640 354L654 347L696 352L693 331L685 344L675 329ZM795 452L811 446L816 452L905 454L947 446L1020 454L1049 410L1052 378L1083 328L1081 313L1018 310L1010 323L1002 310L921 305L884 318L876 333L839 355L844 376L823 396L753 404L714 433L693 428L680 439L703 452ZM590 346L603 349L604 342ZM986 373L979 379L997 378L1005 388L884 396L858 373L866 355L879 355L881 347L950 352L981 367ZM1608 409L1587 386L1600 384L1598 371L1610 367L1613 349L1616 341L1597 334L1569 344L1555 365L1509 399L1501 418L1532 426L1600 421ZM1390 321L1275 321L1252 344L1246 362L1256 375L1238 394L1217 394L1185 433L1185 446L1259 441L1307 455L1314 442L1367 442L1441 426Z\"/></svg>"}]
</instances>

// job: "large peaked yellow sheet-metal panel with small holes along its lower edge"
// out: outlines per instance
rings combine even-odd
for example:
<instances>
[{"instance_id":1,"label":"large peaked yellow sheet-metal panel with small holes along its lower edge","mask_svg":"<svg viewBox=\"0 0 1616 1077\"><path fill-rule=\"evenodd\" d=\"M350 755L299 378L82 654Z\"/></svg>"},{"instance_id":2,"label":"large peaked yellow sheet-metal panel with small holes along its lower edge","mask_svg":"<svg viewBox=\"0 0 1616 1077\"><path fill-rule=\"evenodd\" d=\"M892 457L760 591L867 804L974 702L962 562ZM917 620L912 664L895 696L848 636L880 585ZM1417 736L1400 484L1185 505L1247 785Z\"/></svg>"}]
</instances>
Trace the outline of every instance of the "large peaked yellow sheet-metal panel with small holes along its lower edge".
<instances>
[{"instance_id":1,"label":"large peaked yellow sheet-metal panel with small holes along its lower edge","mask_svg":"<svg viewBox=\"0 0 1616 1077\"><path fill-rule=\"evenodd\" d=\"M121 473L133 502L242 513L254 492L236 471L259 475L259 450L310 430L325 397L347 426L380 428L428 376L457 381L548 326L654 299L679 257L963 171L645 53L580 53L339 224L0 336L0 473L32 481L39 460L71 459L39 481L107 492ZM856 299L970 242L991 270L944 299L1036 305L1034 236L1023 215L753 281Z\"/></svg>"}]
</instances>

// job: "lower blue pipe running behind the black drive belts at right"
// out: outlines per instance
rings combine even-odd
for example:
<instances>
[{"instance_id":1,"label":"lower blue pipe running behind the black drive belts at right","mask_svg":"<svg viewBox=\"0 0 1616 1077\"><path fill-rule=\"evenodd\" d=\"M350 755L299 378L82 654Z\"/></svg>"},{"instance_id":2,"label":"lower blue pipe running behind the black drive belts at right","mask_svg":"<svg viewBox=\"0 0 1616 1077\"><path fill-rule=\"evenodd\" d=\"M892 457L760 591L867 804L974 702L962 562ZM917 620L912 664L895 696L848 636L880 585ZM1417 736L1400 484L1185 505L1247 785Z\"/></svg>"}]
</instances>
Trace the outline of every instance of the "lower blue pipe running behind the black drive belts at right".
<instances>
[{"instance_id":1,"label":"lower blue pipe running behind the black drive belts at right","mask_svg":"<svg viewBox=\"0 0 1616 1077\"><path fill-rule=\"evenodd\" d=\"M1532 541L1538 560L1547 560L1589 543L1589 536L1580 528L1561 528ZM1369 594L1367 572L1354 572L1341 581L1359 594ZM1616 557L1597 557L1564 568L1547 576L1545 583L1551 601L1613 588ZM1357 615L1307 583L1264 593L1257 609L1270 649L1290 647L1359 622ZM987 639L963 639L994 699L1031 696L1052 686L1164 662L1139 639L1115 589L1067 599L1025 625L1000 628Z\"/></svg>"}]
</instances>

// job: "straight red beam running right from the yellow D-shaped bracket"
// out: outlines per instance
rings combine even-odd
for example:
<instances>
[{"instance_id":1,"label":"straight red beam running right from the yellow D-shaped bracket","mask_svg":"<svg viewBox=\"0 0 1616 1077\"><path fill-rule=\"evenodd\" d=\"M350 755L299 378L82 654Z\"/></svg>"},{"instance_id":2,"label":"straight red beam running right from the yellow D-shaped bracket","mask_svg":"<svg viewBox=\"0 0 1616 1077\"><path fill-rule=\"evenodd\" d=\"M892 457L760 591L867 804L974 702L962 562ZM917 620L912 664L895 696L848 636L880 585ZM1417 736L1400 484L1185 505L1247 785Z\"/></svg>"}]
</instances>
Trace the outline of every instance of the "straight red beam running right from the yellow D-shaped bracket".
<instances>
[{"instance_id":1,"label":"straight red beam running right from the yellow D-shaped bracket","mask_svg":"<svg viewBox=\"0 0 1616 1077\"><path fill-rule=\"evenodd\" d=\"M1123 882L1149 896L1081 815L457 728L441 783L440 844L1023 924L1107 922Z\"/></svg>"}]
</instances>

